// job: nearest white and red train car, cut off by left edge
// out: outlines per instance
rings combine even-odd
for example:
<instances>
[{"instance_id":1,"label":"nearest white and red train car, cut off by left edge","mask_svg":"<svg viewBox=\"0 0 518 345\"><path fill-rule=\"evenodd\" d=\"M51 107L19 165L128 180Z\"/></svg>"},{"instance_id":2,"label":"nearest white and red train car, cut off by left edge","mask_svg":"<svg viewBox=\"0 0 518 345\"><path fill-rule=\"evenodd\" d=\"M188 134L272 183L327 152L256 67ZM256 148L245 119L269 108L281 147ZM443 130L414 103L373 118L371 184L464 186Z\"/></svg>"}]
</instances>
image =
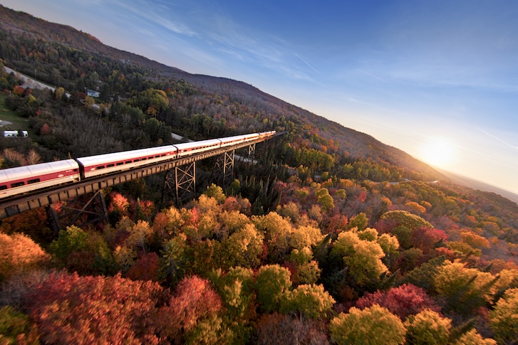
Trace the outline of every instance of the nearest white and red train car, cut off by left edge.
<instances>
[{"instance_id":1,"label":"nearest white and red train car, cut off by left edge","mask_svg":"<svg viewBox=\"0 0 518 345\"><path fill-rule=\"evenodd\" d=\"M79 180L79 165L73 159L1 169L0 198Z\"/></svg>"}]
</instances>

